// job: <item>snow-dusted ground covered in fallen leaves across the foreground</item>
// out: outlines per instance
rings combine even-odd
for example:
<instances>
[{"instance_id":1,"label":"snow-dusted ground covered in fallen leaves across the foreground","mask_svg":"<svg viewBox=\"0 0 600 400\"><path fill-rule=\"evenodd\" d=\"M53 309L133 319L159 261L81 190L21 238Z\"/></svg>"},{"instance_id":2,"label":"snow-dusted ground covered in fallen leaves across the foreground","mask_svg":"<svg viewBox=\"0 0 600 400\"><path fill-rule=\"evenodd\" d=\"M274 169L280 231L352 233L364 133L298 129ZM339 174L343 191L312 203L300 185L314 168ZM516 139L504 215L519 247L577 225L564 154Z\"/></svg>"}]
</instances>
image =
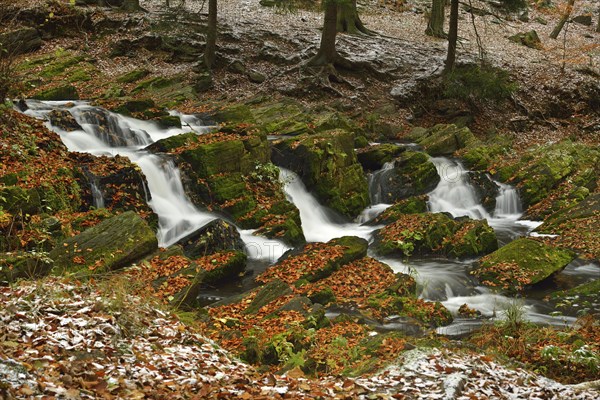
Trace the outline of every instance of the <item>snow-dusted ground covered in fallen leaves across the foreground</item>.
<instances>
[{"instance_id":1,"label":"snow-dusted ground covered in fallen leaves across the foreground","mask_svg":"<svg viewBox=\"0 0 600 400\"><path fill-rule=\"evenodd\" d=\"M152 303L59 279L0 288L4 398L597 399L488 357L415 349L357 379L259 374ZM4 391L4 392L3 392ZM13 396L13 397L11 397ZM2 397L2 396L0 396Z\"/></svg>"}]
</instances>

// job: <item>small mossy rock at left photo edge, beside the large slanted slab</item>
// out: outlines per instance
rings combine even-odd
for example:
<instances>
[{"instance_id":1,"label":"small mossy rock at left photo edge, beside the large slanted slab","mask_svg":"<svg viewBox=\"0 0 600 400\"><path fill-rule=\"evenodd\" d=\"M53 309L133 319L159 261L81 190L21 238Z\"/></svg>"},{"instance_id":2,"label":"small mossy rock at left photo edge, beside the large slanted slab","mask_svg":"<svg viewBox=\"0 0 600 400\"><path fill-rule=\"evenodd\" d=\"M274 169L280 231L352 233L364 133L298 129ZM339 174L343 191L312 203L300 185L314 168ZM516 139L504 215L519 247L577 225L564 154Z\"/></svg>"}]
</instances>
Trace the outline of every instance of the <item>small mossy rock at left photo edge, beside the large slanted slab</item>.
<instances>
[{"instance_id":1,"label":"small mossy rock at left photo edge, beside the large slanted slab","mask_svg":"<svg viewBox=\"0 0 600 400\"><path fill-rule=\"evenodd\" d=\"M0 253L0 283L39 278L47 275L52 266L52 260L39 253Z\"/></svg>"}]
</instances>

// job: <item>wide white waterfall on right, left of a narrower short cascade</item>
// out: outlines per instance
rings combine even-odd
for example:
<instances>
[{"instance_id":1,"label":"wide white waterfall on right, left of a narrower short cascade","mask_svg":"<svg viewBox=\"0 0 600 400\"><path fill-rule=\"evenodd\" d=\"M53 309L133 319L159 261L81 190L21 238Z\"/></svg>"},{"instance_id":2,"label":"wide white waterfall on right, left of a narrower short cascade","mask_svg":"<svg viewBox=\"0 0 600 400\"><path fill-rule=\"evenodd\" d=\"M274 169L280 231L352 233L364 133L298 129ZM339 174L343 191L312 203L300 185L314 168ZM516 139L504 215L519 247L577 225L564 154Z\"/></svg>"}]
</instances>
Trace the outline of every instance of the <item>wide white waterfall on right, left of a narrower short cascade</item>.
<instances>
[{"instance_id":1,"label":"wide white waterfall on right, left of a narrower short cascade","mask_svg":"<svg viewBox=\"0 0 600 400\"><path fill-rule=\"evenodd\" d=\"M437 187L429 193L431 212L448 212L453 217L468 216L473 219L490 218L480 204L463 165L444 157L432 158L441 178Z\"/></svg>"}]
</instances>

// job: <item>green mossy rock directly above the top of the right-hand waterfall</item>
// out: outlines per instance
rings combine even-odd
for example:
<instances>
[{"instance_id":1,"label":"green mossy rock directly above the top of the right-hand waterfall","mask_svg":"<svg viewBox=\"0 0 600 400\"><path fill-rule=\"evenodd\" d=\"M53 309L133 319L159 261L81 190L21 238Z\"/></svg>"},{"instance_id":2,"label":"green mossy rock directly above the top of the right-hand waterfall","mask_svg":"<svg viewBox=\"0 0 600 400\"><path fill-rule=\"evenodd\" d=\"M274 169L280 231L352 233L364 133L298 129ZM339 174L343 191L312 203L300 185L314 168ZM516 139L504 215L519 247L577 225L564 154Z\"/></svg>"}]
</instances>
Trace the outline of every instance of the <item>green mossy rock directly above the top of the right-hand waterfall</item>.
<instances>
[{"instance_id":1,"label":"green mossy rock directly above the top of the right-hand waterfall","mask_svg":"<svg viewBox=\"0 0 600 400\"><path fill-rule=\"evenodd\" d=\"M469 128L459 128L453 124L438 124L425 131L415 129L407 139L423 146L425 151L434 157L452 155L457 150L478 143Z\"/></svg>"}]
</instances>

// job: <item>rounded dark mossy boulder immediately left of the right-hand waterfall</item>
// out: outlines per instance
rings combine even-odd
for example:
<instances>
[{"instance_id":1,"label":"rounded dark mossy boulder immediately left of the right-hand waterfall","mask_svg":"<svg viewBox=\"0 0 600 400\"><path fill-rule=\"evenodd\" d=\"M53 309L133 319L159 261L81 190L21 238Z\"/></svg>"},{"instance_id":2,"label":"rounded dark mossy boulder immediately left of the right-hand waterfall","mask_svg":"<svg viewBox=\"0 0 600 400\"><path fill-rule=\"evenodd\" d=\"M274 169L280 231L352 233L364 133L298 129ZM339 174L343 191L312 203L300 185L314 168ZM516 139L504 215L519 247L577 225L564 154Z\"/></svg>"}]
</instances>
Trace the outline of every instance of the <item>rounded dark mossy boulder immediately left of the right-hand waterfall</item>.
<instances>
[{"instance_id":1,"label":"rounded dark mossy boulder immediately left of the right-hand waterfall","mask_svg":"<svg viewBox=\"0 0 600 400\"><path fill-rule=\"evenodd\" d=\"M394 203L431 192L440 182L435 165L427 154L405 151L391 169L376 172L371 190L382 203Z\"/></svg>"}]
</instances>

